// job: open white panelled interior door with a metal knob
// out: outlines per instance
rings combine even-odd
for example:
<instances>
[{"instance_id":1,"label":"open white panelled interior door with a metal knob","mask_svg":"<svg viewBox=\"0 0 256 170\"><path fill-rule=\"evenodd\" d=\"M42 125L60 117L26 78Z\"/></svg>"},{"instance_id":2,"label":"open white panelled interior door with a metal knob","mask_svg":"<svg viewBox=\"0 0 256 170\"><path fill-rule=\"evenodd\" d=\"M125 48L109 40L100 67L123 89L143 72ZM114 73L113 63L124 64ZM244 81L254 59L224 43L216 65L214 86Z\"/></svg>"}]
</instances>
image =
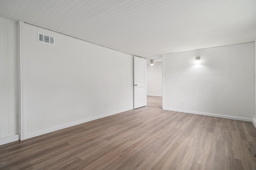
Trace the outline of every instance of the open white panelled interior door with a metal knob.
<instances>
[{"instance_id":1,"label":"open white panelled interior door with a metal knob","mask_svg":"<svg viewBox=\"0 0 256 170\"><path fill-rule=\"evenodd\" d=\"M147 61L134 56L134 109L147 105Z\"/></svg>"}]
</instances>

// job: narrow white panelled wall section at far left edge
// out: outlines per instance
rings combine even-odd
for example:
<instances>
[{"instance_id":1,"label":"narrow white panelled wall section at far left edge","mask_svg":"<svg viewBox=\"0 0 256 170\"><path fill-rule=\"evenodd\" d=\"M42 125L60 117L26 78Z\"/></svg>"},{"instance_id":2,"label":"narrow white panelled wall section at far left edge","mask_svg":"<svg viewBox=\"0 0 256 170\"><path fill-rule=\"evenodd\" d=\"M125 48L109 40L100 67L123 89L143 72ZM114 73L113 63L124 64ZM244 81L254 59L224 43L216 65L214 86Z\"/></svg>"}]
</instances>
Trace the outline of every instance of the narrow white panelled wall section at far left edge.
<instances>
[{"instance_id":1,"label":"narrow white panelled wall section at far left edge","mask_svg":"<svg viewBox=\"0 0 256 170\"><path fill-rule=\"evenodd\" d=\"M19 100L18 23L0 18L0 145L18 140Z\"/></svg>"}]
</instances>

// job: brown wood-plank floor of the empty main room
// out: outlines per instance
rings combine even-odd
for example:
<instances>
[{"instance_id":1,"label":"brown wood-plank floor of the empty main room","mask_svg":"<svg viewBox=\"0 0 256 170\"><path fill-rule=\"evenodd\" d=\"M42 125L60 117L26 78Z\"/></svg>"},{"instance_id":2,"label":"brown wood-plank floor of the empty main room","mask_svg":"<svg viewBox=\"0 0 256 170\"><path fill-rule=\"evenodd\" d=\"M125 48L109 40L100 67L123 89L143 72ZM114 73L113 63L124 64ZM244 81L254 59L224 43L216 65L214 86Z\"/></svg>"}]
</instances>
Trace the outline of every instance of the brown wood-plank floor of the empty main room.
<instances>
[{"instance_id":1,"label":"brown wood-plank floor of the empty main room","mask_svg":"<svg viewBox=\"0 0 256 170\"><path fill-rule=\"evenodd\" d=\"M0 146L0 169L256 169L251 122L141 107Z\"/></svg>"}]
</instances>

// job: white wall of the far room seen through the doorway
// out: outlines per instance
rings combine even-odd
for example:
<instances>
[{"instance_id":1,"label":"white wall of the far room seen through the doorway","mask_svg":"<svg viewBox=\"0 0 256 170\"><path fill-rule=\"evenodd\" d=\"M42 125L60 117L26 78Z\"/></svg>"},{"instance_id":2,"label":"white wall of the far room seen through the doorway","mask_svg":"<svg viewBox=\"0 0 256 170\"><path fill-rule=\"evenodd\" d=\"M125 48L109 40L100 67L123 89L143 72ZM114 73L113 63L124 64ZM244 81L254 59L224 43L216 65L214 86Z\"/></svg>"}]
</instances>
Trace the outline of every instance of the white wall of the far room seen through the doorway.
<instances>
[{"instance_id":1,"label":"white wall of the far room seen through the doorway","mask_svg":"<svg viewBox=\"0 0 256 170\"><path fill-rule=\"evenodd\" d=\"M162 96L162 63L155 63L154 70L147 64L147 95Z\"/></svg>"}]
</instances>

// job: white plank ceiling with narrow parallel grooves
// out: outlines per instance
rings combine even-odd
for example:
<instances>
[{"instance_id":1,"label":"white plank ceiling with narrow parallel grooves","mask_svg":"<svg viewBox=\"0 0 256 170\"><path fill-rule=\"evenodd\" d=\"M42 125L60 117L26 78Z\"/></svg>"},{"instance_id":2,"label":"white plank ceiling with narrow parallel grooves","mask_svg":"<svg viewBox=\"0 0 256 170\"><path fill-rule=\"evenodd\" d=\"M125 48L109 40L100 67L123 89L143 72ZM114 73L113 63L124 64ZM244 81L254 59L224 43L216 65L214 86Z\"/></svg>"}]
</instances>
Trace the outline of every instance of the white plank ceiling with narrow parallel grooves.
<instances>
[{"instance_id":1,"label":"white plank ceiling with narrow parallel grooves","mask_svg":"<svg viewBox=\"0 0 256 170\"><path fill-rule=\"evenodd\" d=\"M0 0L0 17L141 57L256 39L256 0Z\"/></svg>"}]
</instances>

